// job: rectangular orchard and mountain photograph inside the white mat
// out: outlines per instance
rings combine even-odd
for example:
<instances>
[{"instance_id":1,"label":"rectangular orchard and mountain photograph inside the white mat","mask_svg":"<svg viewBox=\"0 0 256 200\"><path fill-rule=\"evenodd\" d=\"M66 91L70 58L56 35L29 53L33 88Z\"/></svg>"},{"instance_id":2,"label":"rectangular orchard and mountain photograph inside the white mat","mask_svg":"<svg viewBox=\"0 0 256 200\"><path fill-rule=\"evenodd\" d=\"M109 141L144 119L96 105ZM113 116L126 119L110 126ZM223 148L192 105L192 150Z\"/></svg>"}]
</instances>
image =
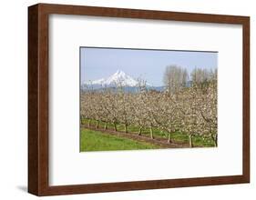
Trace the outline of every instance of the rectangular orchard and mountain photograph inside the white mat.
<instances>
[{"instance_id":1,"label":"rectangular orchard and mountain photograph inside the white mat","mask_svg":"<svg viewBox=\"0 0 256 200\"><path fill-rule=\"evenodd\" d=\"M81 46L80 152L218 147L218 52Z\"/></svg>"}]
</instances>

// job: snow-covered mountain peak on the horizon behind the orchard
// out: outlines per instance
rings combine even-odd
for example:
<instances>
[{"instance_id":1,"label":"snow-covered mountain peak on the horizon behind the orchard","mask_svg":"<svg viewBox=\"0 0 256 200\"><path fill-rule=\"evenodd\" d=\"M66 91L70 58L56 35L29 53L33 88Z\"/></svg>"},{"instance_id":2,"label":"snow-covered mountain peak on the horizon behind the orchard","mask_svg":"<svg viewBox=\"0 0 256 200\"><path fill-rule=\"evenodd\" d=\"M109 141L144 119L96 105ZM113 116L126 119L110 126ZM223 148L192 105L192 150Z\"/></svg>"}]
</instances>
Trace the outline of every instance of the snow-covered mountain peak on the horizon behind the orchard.
<instances>
[{"instance_id":1,"label":"snow-covered mountain peak on the horizon behind the orchard","mask_svg":"<svg viewBox=\"0 0 256 200\"><path fill-rule=\"evenodd\" d=\"M110 75L107 78L100 78L98 80L85 82L84 85L101 85L101 86L114 86L114 85L122 85L122 86L130 86L134 87L138 85L138 81L136 81L131 76L125 74L123 71L118 70L115 74Z\"/></svg>"}]
</instances>

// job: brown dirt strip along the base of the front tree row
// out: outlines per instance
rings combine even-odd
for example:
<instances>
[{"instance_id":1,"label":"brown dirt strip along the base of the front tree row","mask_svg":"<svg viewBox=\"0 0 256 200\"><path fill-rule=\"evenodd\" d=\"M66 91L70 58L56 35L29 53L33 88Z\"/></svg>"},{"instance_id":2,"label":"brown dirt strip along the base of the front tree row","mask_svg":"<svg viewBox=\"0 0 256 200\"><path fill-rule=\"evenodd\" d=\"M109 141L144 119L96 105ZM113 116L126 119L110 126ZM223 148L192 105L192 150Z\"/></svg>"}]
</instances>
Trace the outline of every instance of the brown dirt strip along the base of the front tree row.
<instances>
[{"instance_id":1,"label":"brown dirt strip along the base of the front tree row","mask_svg":"<svg viewBox=\"0 0 256 200\"><path fill-rule=\"evenodd\" d=\"M172 143L167 143L167 139L161 138L159 136L155 136L154 139L151 139L150 137L146 135L137 135L135 133L125 133L125 132L120 132L120 131L114 131L111 129L103 129L103 128L96 128L96 127L88 127L87 125L81 125L82 128L87 128L89 130L93 131L100 131L102 134L107 134L107 135L116 135L119 137L124 137L128 139L132 139L138 142L144 142L148 143L151 145L158 145L161 148L188 148L189 145L187 143L177 143L177 142L172 142Z\"/></svg>"}]
</instances>

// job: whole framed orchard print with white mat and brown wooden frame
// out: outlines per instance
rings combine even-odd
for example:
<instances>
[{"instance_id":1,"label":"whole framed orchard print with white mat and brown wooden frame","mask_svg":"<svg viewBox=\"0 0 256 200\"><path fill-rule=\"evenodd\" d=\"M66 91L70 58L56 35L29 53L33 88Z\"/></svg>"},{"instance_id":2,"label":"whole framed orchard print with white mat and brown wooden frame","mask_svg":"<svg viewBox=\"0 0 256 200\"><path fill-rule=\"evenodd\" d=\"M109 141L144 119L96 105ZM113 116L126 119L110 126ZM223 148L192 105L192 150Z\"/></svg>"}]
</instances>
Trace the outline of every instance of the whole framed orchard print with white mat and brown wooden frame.
<instances>
[{"instance_id":1,"label":"whole framed orchard print with white mat and brown wooden frame","mask_svg":"<svg viewBox=\"0 0 256 200\"><path fill-rule=\"evenodd\" d=\"M250 182L250 17L28 8L28 192Z\"/></svg>"}]
</instances>

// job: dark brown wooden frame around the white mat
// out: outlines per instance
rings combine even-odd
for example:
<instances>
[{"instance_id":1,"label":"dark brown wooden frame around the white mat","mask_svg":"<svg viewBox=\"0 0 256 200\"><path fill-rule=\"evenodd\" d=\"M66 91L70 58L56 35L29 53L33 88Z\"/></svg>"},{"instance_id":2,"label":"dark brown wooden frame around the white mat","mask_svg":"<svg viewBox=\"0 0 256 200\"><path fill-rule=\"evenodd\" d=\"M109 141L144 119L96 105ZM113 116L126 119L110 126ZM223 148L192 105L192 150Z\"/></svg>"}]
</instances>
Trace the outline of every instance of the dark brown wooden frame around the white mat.
<instances>
[{"instance_id":1,"label":"dark brown wooden frame around the white mat","mask_svg":"<svg viewBox=\"0 0 256 200\"><path fill-rule=\"evenodd\" d=\"M48 185L48 15L93 15L242 25L242 175L145 180L90 185ZM250 17L206 15L78 5L28 7L28 192L68 195L250 182Z\"/></svg>"}]
</instances>

